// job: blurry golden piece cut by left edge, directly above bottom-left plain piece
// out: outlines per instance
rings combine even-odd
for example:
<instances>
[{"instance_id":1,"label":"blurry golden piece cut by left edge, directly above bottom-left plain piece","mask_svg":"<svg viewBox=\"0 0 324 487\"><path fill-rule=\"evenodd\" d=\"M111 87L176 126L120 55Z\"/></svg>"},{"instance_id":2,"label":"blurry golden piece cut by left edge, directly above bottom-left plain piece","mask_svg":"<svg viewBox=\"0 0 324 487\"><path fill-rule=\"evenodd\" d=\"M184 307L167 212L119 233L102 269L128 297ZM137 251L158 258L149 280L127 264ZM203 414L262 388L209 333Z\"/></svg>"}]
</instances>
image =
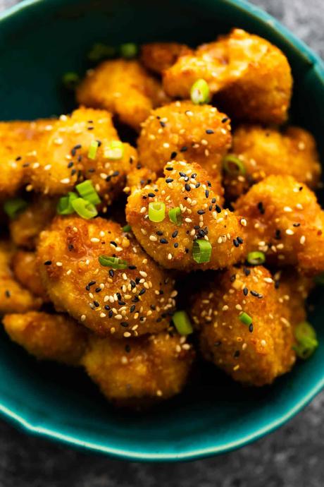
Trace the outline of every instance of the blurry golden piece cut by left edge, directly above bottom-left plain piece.
<instances>
[{"instance_id":1,"label":"blurry golden piece cut by left edge, directly above bottom-left plain piece","mask_svg":"<svg viewBox=\"0 0 324 487\"><path fill-rule=\"evenodd\" d=\"M8 242L0 242L0 315L25 313L38 309L42 299L37 298L15 281L11 272L13 247Z\"/></svg>"}]
</instances>

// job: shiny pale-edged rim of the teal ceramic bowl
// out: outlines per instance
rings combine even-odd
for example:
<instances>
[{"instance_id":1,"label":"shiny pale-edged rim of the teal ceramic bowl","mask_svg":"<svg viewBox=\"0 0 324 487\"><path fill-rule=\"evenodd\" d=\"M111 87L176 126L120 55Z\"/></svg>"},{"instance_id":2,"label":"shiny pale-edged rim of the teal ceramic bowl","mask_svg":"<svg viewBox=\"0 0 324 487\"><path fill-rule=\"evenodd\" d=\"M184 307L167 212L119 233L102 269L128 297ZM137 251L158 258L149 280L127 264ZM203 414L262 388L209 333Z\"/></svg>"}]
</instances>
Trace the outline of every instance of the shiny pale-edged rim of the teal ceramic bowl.
<instances>
[{"instance_id":1,"label":"shiny pale-edged rim of the teal ceramic bowl","mask_svg":"<svg viewBox=\"0 0 324 487\"><path fill-rule=\"evenodd\" d=\"M298 52L299 57L305 57L308 63L311 63L312 68L316 71L316 77L319 82L324 85L324 62L320 59L320 56L313 52L313 50L308 47L302 40L296 37L288 28L286 28L279 20L276 20L273 16L263 11L261 8L250 4L247 0L213 0L219 1L223 4L229 4L235 8L239 8L244 11L244 14L254 18L258 23L266 25L266 27L272 30L275 35L282 38L282 42L285 44L290 44L295 51ZM15 4L10 8L6 8L0 13L0 23L4 20L8 20L12 16L18 15L26 11L30 6L35 6L36 4L44 4L46 0L23 0L19 4ZM266 426L256 429L253 433L244 435L232 442L223 443L214 447L206 448L192 448L192 450L180 453L149 453L149 452L139 452L135 450L125 450L115 447L110 447L106 445L100 445L99 443L87 442L75 438L73 435L67 435L54 431L52 428L44 428L42 426L37 426L32 422L28 421L24 416L15 413L4 404L0 403L0 416L6 419L8 422L12 423L13 426L20 427L23 431L31 433L35 436L40 436L42 438L47 438L56 441L57 443L65 443L73 447L80 448L82 450L90 450L92 452L99 452L103 454L110 455L116 459L124 459L127 461L137 461L137 462L179 462L185 460L197 460L206 457L211 457L213 455L218 455L220 453L230 452L236 450L239 447L248 445L249 443L258 440L258 438L263 437L267 433L271 433L275 429L282 426L284 423L292 419L301 409L306 407L311 400L318 395L318 393L324 389L324 374L323 377L318 380L316 385L314 385L311 390L302 399L294 404L293 407L280 416L276 417L273 421L270 421Z\"/></svg>"}]
</instances>

